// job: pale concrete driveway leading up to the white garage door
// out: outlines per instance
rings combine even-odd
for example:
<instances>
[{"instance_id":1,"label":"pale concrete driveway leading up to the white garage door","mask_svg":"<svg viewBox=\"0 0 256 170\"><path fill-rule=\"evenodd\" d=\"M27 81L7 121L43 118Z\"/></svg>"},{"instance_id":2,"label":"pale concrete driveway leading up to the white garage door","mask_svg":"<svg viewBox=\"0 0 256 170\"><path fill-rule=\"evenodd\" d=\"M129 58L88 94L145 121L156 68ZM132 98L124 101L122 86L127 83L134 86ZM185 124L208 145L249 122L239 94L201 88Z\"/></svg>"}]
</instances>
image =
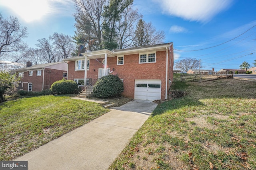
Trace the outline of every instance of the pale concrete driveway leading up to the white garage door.
<instances>
[{"instance_id":1,"label":"pale concrete driveway leading up to the white garage door","mask_svg":"<svg viewBox=\"0 0 256 170\"><path fill-rule=\"evenodd\" d=\"M157 104L133 100L15 161L28 170L106 170Z\"/></svg>"}]
</instances>

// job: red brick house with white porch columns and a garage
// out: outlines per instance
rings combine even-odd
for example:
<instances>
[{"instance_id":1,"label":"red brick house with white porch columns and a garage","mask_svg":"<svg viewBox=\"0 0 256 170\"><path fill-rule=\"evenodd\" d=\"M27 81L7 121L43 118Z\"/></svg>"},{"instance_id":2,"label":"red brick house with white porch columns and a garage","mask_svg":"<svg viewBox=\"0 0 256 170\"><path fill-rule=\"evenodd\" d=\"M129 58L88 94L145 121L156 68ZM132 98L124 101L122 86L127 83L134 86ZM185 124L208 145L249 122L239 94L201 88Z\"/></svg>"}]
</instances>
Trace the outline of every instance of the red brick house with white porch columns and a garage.
<instances>
[{"instance_id":1,"label":"red brick house with white porch columns and a garage","mask_svg":"<svg viewBox=\"0 0 256 170\"><path fill-rule=\"evenodd\" d=\"M124 82L122 95L127 98L168 99L173 78L173 43L81 54L83 56L64 59L68 63L68 80L78 84L86 80L88 85L102 76L114 74Z\"/></svg>"}]
</instances>

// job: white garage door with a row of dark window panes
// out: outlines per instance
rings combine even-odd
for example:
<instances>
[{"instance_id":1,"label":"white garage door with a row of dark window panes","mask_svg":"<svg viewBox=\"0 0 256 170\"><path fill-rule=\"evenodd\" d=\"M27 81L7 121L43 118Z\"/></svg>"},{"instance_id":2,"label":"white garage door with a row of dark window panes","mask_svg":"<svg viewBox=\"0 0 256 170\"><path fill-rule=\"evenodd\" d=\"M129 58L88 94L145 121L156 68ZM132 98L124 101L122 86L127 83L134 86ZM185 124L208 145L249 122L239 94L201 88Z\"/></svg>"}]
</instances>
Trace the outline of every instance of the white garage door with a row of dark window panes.
<instances>
[{"instance_id":1,"label":"white garage door with a row of dark window panes","mask_svg":"<svg viewBox=\"0 0 256 170\"><path fill-rule=\"evenodd\" d=\"M160 100L161 80L135 80L134 99Z\"/></svg>"}]
</instances>

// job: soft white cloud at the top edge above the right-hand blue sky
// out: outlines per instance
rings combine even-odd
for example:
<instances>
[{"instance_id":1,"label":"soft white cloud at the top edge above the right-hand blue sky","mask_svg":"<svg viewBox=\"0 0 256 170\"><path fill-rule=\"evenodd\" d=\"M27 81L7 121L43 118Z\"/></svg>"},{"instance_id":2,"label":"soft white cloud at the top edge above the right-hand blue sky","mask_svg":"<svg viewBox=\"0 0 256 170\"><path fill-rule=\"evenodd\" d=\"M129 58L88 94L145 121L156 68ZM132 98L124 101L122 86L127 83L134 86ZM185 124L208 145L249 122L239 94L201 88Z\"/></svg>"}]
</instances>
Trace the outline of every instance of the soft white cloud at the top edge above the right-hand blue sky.
<instances>
[{"instance_id":1,"label":"soft white cloud at the top edge above the right-hand blue sky","mask_svg":"<svg viewBox=\"0 0 256 170\"><path fill-rule=\"evenodd\" d=\"M164 13L190 21L207 22L229 8L233 0L154 0Z\"/></svg>"}]
</instances>

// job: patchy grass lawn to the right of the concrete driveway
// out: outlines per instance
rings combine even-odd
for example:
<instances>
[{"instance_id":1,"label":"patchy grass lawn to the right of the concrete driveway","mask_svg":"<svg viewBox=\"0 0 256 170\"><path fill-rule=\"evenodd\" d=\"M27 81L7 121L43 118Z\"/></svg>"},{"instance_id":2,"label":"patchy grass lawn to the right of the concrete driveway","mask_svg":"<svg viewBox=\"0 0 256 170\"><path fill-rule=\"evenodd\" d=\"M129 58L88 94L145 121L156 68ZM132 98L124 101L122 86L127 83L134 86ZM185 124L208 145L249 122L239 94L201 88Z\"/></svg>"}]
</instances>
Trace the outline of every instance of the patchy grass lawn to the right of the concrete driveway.
<instances>
[{"instance_id":1,"label":"patchy grass lawn to the right of the concrete driveway","mask_svg":"<svg viewBox=\"0 0 256 170\"><path fill-rule=\"evenodd\" d=\"M187 82L188 95L158 105L109 169L256 169L255 89L234 79Z\"/></svg>"}]
</instances>

